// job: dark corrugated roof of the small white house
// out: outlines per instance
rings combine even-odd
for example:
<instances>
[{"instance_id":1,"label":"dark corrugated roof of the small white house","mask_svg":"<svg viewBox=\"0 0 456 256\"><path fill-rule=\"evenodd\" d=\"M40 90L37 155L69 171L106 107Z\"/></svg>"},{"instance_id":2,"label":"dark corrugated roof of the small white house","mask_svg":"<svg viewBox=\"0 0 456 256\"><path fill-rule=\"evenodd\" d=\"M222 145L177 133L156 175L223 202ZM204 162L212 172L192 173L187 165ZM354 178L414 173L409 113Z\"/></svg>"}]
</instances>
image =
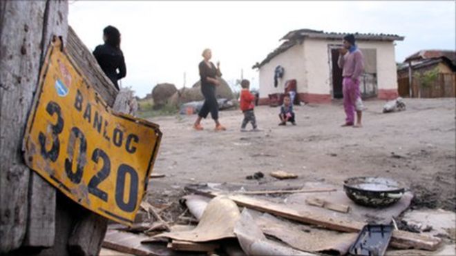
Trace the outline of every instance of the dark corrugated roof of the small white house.
<instances>
[{"instance_id":1,"label":"dark corrugated roof of the small white house","mask_svg":"<svg viewBox=\"0 0 456 256\"><path fill-rule=\"evenodd\" d=\"M270 52L263 61L256 63L252 68L261 68L277 55L292 48L296 43L302 43L305 38L319 39L339 39L342 40L345 35L353 34L357 41L402 41L404 37L392 34L361 34L361 33L339 33L339 32L324 32L323 30L311 30L304 28L301 30L293 30L287 33L281 40L286 40L278 48Z\"/></svg>"}]
</instances>

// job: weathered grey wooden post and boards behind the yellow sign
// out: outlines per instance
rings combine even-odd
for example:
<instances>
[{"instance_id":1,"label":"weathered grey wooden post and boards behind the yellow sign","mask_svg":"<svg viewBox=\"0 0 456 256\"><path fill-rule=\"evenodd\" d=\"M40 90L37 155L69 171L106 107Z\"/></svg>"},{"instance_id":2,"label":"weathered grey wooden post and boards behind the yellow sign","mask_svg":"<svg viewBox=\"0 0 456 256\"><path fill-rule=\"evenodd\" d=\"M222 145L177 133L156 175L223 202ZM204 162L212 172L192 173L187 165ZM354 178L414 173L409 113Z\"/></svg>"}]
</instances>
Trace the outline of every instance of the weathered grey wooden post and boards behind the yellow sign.
<instances>
[{"instance_id":1,"label":"weathered grey wooden post and boards behind the yellow sign","mask_svg":"<svg viewBox=\"0 0 456 256\"><path fill-rule=\"evenodd\" d=\"M0 255L97 255L106 233L107 219L58 193L24 164L21 152L53 36L68 44L99 97L114 104L117 90L68 30L67 17L67 0L0 1Z\"/></svg>"}]
</instances>

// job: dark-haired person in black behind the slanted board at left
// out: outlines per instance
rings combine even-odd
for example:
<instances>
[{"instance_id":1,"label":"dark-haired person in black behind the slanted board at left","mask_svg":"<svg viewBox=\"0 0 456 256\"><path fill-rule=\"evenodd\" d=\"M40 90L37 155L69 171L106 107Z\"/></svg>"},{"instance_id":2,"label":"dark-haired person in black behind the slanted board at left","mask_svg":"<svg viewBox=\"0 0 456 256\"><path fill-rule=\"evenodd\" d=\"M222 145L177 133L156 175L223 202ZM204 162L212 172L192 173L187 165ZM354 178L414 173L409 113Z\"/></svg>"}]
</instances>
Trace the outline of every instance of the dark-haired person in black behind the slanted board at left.
<instances>
[{"instance_id":1,"label":"dark-haired person in black behind the slanted board at left","mask_svg":"<svg viewBox=\"0 0 456 256\"><path fill-rule=\"evenodd\" d=\"M113 26L107 26L103 30L103 45L97 46L93 56L97 59L99 66L106 74L106 77L113 81L115 88L119 90L117 80L126 75L124 53L120 50L120 32ZM119 72L117 72L119 70Z\"/></svg>"}]
</instances>

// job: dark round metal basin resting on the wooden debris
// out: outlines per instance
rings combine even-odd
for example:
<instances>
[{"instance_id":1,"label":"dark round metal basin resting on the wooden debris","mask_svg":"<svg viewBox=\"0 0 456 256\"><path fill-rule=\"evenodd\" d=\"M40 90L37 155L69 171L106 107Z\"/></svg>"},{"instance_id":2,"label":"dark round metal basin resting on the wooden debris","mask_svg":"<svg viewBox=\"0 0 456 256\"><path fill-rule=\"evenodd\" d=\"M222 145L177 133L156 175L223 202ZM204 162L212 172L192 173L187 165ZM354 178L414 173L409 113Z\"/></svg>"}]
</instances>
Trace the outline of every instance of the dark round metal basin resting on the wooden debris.
<instances>
[{"instance_id":1,"label":"dark round metal basin resting on the wooden debris","mask_svg":"<svg viewBox=\"0 0 456 256\"><path fill-rule=\"evenodd\" d=\"M395 204L405 190L397 181L383 177L352 177L343 182L343 190L350 199L375 208Z\"/></svg>"}]
</instances>

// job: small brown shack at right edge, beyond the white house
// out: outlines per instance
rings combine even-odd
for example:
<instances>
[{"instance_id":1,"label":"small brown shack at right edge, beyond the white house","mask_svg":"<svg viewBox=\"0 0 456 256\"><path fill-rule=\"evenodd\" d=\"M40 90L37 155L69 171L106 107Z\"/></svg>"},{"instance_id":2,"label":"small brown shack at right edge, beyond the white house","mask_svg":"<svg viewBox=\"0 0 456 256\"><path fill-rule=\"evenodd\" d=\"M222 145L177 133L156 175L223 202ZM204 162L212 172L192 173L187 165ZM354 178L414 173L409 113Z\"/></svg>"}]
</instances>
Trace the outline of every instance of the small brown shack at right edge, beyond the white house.
<instances>
[{"instance_id":1,"label":"small brown shack at right edge, beyond the white house","mask_svg":"<svg viewBox=\"0 0 456 256\"><path fill-rule=\"evenodd\" d=\"M397 82L401 97L456 97L456 52L415 52L399 64Z\"/></svg>"}]
</instances>

